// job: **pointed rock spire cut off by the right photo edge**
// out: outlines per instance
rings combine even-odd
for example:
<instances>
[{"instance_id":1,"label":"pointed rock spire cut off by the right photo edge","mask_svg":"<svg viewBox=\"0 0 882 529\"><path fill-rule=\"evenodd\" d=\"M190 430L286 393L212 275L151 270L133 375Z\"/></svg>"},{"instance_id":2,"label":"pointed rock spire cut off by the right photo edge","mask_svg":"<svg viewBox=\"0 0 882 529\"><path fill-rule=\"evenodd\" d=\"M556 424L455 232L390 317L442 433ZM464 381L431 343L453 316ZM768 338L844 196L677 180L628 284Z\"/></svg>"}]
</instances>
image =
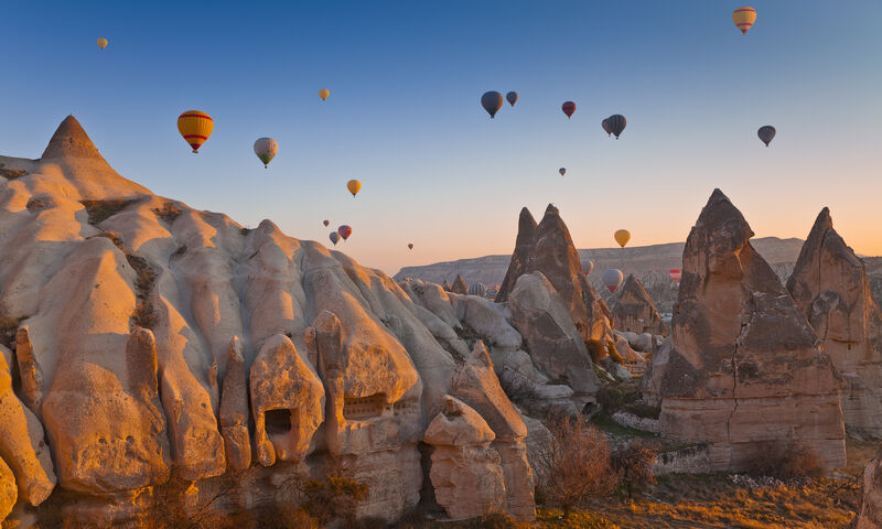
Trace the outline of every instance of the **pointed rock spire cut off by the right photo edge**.
<instances>
[{"instance_id":1,"label":"pointed rock spire cut off by the right photo edge","mask_svg":"<svg viewBox=\"0 0 882 529\"><path fill-rule=\"evenodd\" d=\"M863 261L833 229L826 207L787 281L824 350L846 379L846 424L882 436L882 311Z\"/></svg>"}]
</instances>

